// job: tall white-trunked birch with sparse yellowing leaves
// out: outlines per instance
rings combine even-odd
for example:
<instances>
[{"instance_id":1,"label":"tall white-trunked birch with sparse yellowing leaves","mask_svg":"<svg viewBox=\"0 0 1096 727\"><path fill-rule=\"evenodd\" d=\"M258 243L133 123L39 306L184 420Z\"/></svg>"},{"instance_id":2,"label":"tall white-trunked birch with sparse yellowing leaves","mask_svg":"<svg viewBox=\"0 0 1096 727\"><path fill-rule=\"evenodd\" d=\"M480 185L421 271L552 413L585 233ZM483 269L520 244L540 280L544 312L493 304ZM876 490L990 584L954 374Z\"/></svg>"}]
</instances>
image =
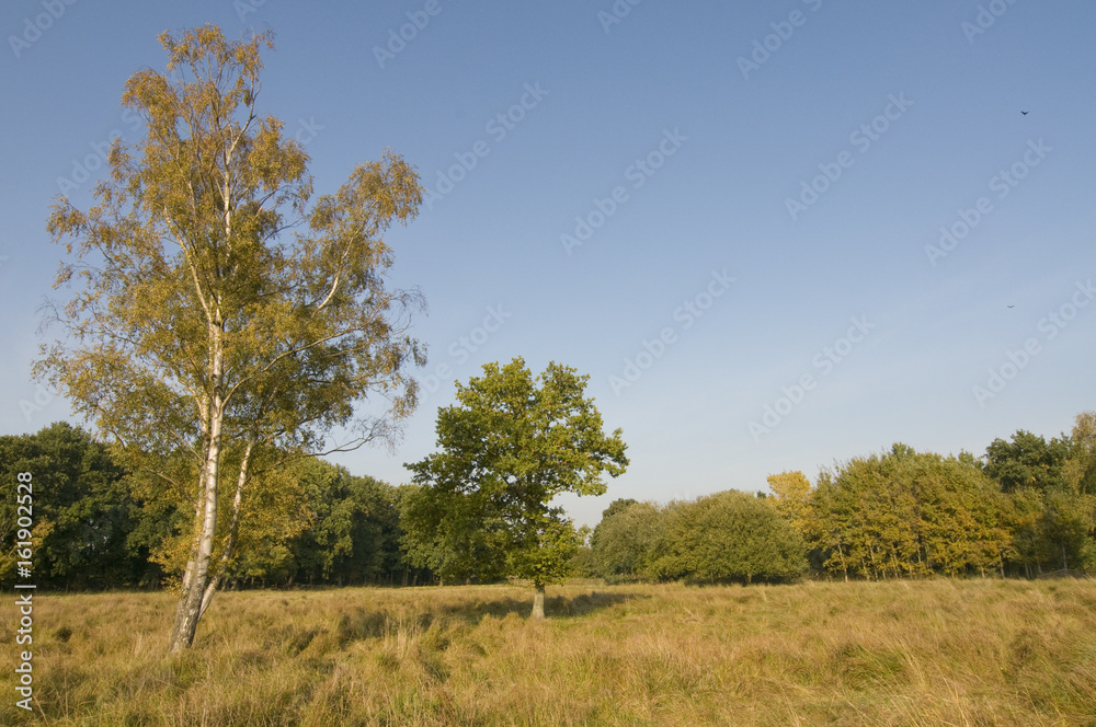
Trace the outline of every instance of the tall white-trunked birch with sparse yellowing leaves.
<instances>
[{"instance_id":1,"label":"tall white-trunked birch with sparse yellowing leaves","mask_svg":"<svg viewBox=\"0 0 1096 727\"><path fill-rule=\"evenodd\" d=\"M70 339L37 371L190 516L174 653L248 521L272 515L258 505L284 499L279 458L322 452L333 427L343 449L385 438L413 411L406 370L425 359L404 332L421 296L386 289L380 234L414 217L422 186L387 153L309 209L308 155L256 107L271 37L159 39L167 73L139 71L123 95L145 138L114 142L95 206L60 198L49 217L70 255L57 286L77 290L53 316ZM381 405L355 419L367 395Z\"/></svg>"}]
</instances>

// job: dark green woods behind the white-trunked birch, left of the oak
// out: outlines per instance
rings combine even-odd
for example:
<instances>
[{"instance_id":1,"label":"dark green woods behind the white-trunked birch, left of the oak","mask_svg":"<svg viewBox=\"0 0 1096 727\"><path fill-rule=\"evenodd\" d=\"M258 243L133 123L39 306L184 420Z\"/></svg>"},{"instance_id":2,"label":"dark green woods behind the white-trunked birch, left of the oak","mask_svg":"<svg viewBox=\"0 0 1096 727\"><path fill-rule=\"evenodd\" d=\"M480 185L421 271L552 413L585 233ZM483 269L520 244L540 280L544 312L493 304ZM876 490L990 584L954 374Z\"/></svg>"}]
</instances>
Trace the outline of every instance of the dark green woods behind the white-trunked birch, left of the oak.
<instances>
[{"instance_id":1,"label":"dark green woods behind the white-trunked birch, left of the oak","mask_svg":"<svg viewBox=\"0 0 1096 727\"><path fill-rule=\"evenodd\" d=\"M34 558L39 588L99 590L178 586L193 519L185 500L151 497L140 472L65 422L0 437L0 476L34 474ZM228 587L420 585L426 568L400 549L407 487L352 475L320 459L294 461L281 486L243 503ZM14 498L0 504L0 575L15 570ZM218 547L218 553L222 552Z\"/></svg>"}]
</instances>

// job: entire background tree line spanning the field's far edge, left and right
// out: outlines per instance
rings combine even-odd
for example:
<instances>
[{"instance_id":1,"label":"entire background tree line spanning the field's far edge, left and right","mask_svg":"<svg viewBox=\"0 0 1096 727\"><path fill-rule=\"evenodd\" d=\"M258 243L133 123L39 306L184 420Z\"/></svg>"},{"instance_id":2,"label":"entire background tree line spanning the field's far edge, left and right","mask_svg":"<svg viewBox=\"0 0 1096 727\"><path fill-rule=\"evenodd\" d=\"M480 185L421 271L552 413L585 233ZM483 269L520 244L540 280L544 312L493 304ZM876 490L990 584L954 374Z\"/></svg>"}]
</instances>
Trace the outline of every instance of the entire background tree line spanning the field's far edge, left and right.
<instances>
[{"instance_id":1,"label":"entire background tree line spanning the field's far edge, left and right","mask_svg":"<svg viewBox=\"0 0 1096 727\"><path fill-rule=\"evenodd\" d=\"M436 457L415 470L437 469ZM32 570L42 587L179 582L185 508L142 499L140 476L88 431L59 422L0 437L0 463L5 482L34 473ZM438 530L439 510L422 484L392 486L313 458L285 475L290 484L275 501L247 504L265 509L266 517L250 519L265 524L240 533L222 577L228 587L414 586L512 575L487 545L498 523L463 518L454 521L463 530ZM1050 440L1024 430L995 439L981 458L895 443L824 469L814 483L784 472L768 484L770 493L728 491L669 504L616 499L595 528L580 529L584 544L561 551L567 562L558 575L750 584L1096 570L1096 413L1078 415L1071 435ZM450 491L441 509L452 509L455 496ZM14 500L5 498L5 578L14 574L15 520Z\"/></svg>"}]
</instances>

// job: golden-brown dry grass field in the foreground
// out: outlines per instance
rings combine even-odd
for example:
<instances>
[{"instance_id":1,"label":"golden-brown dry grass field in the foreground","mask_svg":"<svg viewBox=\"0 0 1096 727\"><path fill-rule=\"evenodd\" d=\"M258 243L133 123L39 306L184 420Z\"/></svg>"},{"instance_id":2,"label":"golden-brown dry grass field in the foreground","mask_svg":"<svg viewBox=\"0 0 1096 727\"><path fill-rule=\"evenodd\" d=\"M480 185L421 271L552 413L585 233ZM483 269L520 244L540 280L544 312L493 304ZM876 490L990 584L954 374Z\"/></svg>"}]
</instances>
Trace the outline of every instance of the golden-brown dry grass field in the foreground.
<instances>
[{"instance_id":1,"label":"golden-brown dry grass field in the foreground","mask_svg":"<svg viewBox=\"0 0 1096 727\"><path fill-rule=\"evenodd\" d=\"M1096 580L219 593L164 656L165 593L36 598L33 715L14 608L0 723L1096 725Z\"/></svg>"}]
</instances>

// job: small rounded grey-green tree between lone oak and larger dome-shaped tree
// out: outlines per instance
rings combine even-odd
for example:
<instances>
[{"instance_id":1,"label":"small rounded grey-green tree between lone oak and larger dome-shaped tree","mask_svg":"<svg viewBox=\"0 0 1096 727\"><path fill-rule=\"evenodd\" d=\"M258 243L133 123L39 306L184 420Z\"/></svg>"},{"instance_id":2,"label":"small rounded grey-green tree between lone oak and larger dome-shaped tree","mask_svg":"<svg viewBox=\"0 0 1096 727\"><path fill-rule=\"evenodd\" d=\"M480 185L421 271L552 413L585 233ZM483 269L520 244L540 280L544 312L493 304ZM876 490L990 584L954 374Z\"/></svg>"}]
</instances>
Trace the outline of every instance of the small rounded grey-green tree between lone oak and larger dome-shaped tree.
<instances>
[{"instance_id":1,"label":"small rounded grey-green tree between lone oak and larger dome-shaped tree","mask_svg":"<svg viewBox=\"0 0 1096 727\"><path fill-rule=\"evenodd\" d=\"M624 503L626 500L615 500ZM662 534L662 511L652 503L627 500L610 505L591 540L592 556L600 576L638 576L649 564L652 549Z\"/></svg>"}]
</instances>

